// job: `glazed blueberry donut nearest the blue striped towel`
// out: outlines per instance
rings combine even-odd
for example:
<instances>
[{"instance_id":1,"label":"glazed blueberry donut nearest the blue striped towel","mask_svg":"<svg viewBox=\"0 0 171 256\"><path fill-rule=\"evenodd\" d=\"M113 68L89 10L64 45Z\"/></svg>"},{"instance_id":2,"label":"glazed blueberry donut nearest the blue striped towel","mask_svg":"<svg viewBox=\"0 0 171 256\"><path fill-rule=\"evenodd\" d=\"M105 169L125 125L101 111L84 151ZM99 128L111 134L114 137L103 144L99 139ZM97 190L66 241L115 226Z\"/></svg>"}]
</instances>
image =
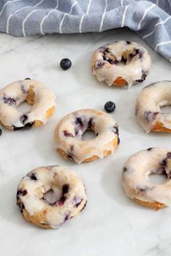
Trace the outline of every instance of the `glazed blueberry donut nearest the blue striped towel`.
<instances>
[{"instance_id":1,"label":"glazed blueberry donut nearest the blue striped towel","mask_svg":"<svg viewBox=\"0 0 171 256\"><path fill-rule=\"evenodd\" d=\"M97 49L91 62L93 75L108 86L132 86L149 74L151 58L143 46L129 41L116 41Z\"/></svg>"}]
</instances>

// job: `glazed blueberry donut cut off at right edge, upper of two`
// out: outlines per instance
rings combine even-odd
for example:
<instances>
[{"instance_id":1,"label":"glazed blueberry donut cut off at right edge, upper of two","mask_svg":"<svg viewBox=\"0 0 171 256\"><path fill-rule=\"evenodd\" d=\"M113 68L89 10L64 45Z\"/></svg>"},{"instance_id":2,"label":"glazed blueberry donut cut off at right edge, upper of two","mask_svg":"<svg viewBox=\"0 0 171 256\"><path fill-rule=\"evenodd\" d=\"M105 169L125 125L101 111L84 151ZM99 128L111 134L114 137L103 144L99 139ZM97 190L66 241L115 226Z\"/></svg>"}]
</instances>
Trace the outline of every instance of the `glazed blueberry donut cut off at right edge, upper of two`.
<instances>
[{"instance_id":1,"label":"glazed blueberry donut cut off at right edge, upper of two","mask_svg":"<svg viewBox=\"0 0 171 256\"><path fill-rule=\"evenodd\" d=\"M160 107L171 104L171 81L151 83L141 91L135 105L135 115L141 127L150 131L171 133L171 113L160 112Z\"/></svg>"}]
</instances>

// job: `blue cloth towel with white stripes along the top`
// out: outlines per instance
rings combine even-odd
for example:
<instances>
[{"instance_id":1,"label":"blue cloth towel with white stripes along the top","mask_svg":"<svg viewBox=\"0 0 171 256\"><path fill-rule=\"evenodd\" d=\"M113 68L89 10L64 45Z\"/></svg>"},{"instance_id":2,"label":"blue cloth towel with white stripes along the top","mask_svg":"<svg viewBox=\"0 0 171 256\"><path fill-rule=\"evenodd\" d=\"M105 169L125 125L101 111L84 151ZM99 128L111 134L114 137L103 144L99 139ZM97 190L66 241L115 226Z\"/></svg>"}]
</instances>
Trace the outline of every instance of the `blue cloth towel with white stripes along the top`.
<instances>
[{"instance_id":1,"label":"blue cloth towel with white stripes along the top","mask_svg":"<svg viewBox=\"0 0 171 256\"><path fill-rule=\"evenodd\" d=\"M13 36L125 26L171 61L171 0L0 0L0 31Z\"/></svg>"}]
</instances>

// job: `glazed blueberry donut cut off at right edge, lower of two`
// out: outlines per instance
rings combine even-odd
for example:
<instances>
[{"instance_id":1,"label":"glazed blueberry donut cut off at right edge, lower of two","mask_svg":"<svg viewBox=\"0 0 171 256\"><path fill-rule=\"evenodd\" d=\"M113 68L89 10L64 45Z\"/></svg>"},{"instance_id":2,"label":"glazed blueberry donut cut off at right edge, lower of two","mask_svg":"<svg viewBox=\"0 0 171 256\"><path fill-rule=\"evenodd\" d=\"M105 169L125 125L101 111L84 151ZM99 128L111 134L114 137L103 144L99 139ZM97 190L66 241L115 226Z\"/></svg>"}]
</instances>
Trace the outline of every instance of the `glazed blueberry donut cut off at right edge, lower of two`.
<instances>
[{"instance_id":1,"label":"glazed blueberry donut cut off at right edge, lower of two","mask_svg":"<svg viewBox=\"0 0 171 256\"><path fill-rule=\"evenodd\" d=\"M162 174L167 181L154 184L151 173ZM133 154L125 163L122 186L125 194L140 205L155 210L171 205L171 152L167 149L149 148Z\"/></svg>"}]
</instances>

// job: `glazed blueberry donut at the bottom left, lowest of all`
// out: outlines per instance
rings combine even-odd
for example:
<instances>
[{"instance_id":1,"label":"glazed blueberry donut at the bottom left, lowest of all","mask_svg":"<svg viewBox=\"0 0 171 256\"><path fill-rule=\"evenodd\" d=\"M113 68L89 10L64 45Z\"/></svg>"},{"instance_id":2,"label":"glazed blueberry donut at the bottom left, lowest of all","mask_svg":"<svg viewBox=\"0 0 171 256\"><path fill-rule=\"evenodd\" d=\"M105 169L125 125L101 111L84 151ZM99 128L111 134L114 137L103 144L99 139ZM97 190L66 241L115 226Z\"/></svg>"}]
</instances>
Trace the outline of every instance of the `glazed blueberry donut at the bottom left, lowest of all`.
<instances>
[{"instance_id":1,"label":"glazed blueberry donut at the bottom left, lowest of all","mask_svg":"<svg viewBox=\"0 0 171 256\"><path fill-rule=\"evenodd\" d=\"M45 194L53 191L50 199ZM25 220L41 228L59 228L86 206L80 178L62 166L32 170L17 187L17 206Z\"/></svg>"}]
</instances>

